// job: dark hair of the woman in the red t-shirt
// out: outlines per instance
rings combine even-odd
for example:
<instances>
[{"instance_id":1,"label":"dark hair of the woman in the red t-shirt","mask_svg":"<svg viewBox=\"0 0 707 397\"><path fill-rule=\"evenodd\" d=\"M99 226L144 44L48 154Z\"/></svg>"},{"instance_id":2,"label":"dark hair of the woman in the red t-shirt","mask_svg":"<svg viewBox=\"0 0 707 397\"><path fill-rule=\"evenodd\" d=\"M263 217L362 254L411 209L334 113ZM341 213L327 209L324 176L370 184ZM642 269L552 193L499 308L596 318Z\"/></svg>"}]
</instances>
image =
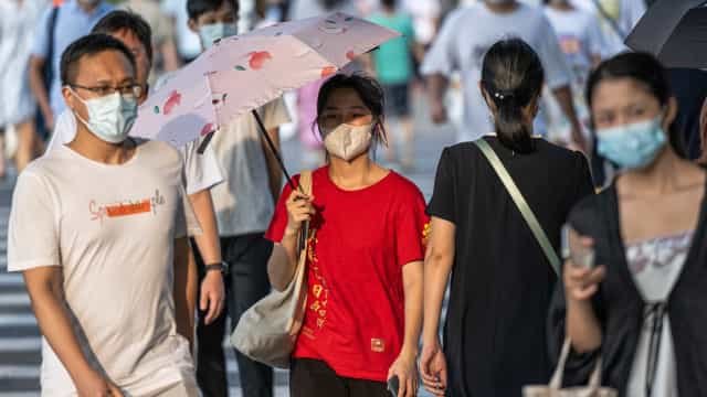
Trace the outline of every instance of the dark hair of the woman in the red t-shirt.
<instances>
[{"instance_id":1,"label":"dark hair of the woman in the red t-shirt","mask_svg":"<svg viewBox=\"0 0 707 397\"><path fill-rule=\"evenodd\" d=\"M324 112L327 101L331 93L340 88L354 89L363 101L363 105L371 111L373 116L373 146L377 143L386 142L386 127L383 127L384 115L384 98L383 88L378 81L372 77L366 76L361 73L355 74L336 74L331 78L327 79L319 88L319 96L317 97L317 119L314 121L319 130L321 137L321 114Z\"/></svg>"}]
</instances>

